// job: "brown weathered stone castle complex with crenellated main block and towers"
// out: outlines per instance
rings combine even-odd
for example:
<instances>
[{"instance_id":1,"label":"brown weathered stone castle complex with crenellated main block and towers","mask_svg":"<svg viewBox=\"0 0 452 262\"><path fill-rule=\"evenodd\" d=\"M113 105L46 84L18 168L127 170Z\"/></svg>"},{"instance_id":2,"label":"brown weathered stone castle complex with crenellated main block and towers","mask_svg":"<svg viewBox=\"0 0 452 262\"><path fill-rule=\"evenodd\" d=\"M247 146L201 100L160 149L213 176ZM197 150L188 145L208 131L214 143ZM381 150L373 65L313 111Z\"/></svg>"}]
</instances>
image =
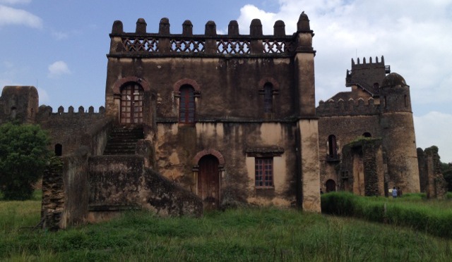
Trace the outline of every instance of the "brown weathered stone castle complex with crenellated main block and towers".
<instances>
[{"instance_id":1,"label":"brown weathered stone castle complex with crenellated main block and towers","mask_svg":"<svg viewBox=\"0 0 452 262\"><path fill-rule=\"evenodd\" d=\"M286 35L275 22L249 35L206 23L194 35L160 20L159 32L115 21L105 107L54 112L35 87L4 87L0 123L37 123L63 166L43 177L44 226L64 228L123 210L201 216L240 204L320 212L320 190L420 192L410 87L383 57L352 60L346 85L315 106L314 51L306 14ZM421 176L422 177L422 176Z\"/></svg>"}]
</instances>

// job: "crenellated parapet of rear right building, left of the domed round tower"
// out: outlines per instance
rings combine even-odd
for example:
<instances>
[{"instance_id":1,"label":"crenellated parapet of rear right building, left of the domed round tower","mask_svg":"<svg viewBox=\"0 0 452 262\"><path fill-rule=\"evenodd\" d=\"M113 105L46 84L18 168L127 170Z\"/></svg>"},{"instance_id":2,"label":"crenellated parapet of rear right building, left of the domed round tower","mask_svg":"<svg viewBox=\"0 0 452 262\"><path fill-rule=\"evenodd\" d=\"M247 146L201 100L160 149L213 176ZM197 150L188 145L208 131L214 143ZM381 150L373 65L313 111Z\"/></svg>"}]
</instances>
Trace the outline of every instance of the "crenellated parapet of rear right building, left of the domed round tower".
<instances>
[{"instance_id":1,"label":"crenellated parapet of rear right building, left of the domed round tower","mask_svg":"<svg viewBox=\"0 0 452 262\"><path fill-rule=\"evenodd\" d=\"M316 108L317 116L359 116L379 114L380 105L375 104L373 98L366 101L364 99L343 99L320 101Z\"/></svg>"}]
</instances>

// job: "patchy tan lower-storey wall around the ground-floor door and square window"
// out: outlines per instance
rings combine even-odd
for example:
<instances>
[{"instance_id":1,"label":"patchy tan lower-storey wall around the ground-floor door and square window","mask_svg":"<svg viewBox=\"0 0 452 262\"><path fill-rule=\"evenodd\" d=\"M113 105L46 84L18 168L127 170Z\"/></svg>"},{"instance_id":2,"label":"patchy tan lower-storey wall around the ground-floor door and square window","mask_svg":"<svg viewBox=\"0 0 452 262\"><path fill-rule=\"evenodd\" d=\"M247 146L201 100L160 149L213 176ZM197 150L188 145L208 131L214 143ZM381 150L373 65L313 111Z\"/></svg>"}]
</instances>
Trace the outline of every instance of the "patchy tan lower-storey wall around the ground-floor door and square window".
<instances>
[{"instance_id":1,"label":"patchy tan lower-storey wall around the ground-floor door and square window","mask_svg":"<svg viewBox=\"0 0 452 262\"><path fill-rule=\"evenodd\" d=\"M196 193L195 156L215 149L224 158L220 172L220 204L295 204L297 160L292 123L196 123L193 127L159 123L155 154L157 170ZM254 152L283 151L274 156L274 188L254 186ZM317 189L316 191L318 191Z\"/></svg>"}]
</instances>

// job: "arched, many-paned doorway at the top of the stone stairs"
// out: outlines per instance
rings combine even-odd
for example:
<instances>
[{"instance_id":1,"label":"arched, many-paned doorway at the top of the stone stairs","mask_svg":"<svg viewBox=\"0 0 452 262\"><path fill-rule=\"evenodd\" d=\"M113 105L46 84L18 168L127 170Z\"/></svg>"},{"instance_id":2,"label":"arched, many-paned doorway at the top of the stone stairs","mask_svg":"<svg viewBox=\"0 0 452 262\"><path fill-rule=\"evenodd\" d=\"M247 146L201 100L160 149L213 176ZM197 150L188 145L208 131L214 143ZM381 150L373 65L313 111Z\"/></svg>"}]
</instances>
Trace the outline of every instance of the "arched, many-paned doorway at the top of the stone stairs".
<instances>
[{"instance_id":1,"label":"arched, many-paned doorway at the top of the stone stairs","mask_svg":"<svg viewBox=\"0 0 452 262\"><path fill-rule=\"evenodd\" d=\"M121 88L121 124L143 123L143 88L129 82Z\"/></svg>"}]
</instances>

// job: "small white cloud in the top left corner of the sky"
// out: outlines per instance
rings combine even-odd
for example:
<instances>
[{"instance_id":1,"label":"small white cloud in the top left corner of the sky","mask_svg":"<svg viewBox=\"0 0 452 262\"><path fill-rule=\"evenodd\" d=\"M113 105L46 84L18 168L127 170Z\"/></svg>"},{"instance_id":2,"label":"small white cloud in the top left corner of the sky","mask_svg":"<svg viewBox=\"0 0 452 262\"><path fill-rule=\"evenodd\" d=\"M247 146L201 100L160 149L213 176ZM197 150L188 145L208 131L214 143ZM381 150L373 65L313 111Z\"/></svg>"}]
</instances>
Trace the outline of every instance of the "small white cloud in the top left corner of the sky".
<instances>
[{"instance_id":1,"label":"small white cloud in the top left corner of the sky","mask_svg":"<svg viewBox=\"0 0 452 262\"><path fill-rule=\"evenodd\" d=\"M28 11L0 5L0 27L4 25L42 28L42 19Z\"/></svg>"}]
</instances>

